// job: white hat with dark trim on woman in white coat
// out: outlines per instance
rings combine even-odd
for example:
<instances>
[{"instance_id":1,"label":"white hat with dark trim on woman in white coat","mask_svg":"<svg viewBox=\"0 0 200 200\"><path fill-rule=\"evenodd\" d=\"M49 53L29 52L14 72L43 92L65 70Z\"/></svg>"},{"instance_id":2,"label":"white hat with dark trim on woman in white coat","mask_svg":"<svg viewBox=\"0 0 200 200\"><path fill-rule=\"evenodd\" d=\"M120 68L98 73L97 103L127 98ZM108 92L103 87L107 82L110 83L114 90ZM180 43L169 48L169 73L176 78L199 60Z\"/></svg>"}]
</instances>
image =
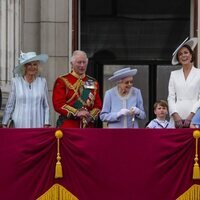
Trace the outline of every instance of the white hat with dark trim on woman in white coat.
<instances>
[{"instance_id":1,"label":"white hat with dark trim on woman in white coat","mask_svg":"<svg viewBox=\"0 0 200 200\"><path fill-rule=\"evenodd\" d=\"M172 54L172 65L177 65L179 64L179 61L177 60L177 53L178 51L181 49L181 47L183 47L184 45L188 45L192 51L194 50L194 48L196 47L198 42L197 38L186 38L179 46L178 48L174 51L174 53Z\"/></svg>"}]
</instances>

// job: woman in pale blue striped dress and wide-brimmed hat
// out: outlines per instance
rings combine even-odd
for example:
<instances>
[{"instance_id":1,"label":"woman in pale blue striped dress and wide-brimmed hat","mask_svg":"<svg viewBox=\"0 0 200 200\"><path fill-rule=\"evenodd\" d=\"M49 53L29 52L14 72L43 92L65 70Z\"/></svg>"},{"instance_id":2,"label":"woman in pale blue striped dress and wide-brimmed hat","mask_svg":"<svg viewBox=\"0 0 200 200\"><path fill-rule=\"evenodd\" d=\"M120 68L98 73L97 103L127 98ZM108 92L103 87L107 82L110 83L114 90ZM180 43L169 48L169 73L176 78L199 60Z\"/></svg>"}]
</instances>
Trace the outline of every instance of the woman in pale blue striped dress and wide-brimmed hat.
<instances>
[{"instance_id":1,"label":"woman in pale blue striped dress and wide-brimmed hat","mask_svg":"<svg viewBox=\"0 0 200 200\"><path fill-rule=\"evenodd\" d=\"M48 60L46 54L21 53L20 64L14 69L11 91L3 116L3 127L10 118L15 128L49 127L48 88L44 77L38 75L40 63Z\"/></svg>"}]
</instances>

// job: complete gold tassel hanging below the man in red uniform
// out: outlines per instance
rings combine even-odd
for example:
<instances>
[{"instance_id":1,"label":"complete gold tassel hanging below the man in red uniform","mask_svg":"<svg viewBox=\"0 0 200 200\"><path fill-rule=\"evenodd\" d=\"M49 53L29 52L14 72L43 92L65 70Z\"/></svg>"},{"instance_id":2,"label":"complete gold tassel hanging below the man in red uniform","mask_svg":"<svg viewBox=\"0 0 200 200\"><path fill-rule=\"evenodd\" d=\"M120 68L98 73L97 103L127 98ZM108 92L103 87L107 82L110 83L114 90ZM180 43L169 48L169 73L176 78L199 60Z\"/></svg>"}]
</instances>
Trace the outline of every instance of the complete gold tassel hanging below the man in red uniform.
<instances>
[{"instance_id":1,"label":"complete gold tassel hanging below the man in red uniform","mask_svg":"<svg viewBox=\"0 0 200 200\"><path fill-rule=\"evenodd\" d=\"M55 178L62 178L62 165L61 165L61 156L60 156L60 139L62 138L63 133L61 130L55 132L55 137L57 138L57 162L55 168Z\"/></svg>"}]
</instances>

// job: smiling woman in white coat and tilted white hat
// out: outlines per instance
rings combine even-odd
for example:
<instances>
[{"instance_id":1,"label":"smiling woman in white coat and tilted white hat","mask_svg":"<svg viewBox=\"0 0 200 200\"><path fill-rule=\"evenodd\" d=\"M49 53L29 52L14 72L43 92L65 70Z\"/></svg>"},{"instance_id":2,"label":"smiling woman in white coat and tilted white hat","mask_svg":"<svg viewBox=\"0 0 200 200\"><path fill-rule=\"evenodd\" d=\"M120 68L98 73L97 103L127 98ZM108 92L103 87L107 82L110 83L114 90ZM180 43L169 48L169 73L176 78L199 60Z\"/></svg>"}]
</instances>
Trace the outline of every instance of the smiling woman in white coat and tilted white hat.
<instances>
[{"instance_id":1,"label":"smiling woman in white coat and tilted white hat","mask_svg":"<svg viewBox=\"0 0 200 200\"><path fill-rule=\"evenodd\" d=\"M172 65L182 68L171 72L168 86L170 122L176 128L188 128L200 107L200 69L192 64L197 38L186 39L173 53Z\"/></svg>"}]
</instances>

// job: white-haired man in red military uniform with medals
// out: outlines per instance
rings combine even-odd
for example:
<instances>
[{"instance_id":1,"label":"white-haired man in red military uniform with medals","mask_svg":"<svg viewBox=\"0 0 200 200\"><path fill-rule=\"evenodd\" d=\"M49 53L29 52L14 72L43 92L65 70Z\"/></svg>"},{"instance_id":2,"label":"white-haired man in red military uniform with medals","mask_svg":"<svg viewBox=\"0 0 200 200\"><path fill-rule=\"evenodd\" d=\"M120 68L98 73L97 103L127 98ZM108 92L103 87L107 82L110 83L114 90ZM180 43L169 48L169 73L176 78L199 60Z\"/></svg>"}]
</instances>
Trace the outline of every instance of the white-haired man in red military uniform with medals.
<instances>
[{"instance_id":1,"label":"white-haired man in red military uniform with medals","mask_svg":"<svg viewBox=\"0 0 200 200\"><path fill-rule=\"evenodd\" d=\"M53 88L53 106L60 114L57 127L89 128L102 108L98 82L85 74L88 58L84 51L74 51L72 72L56 79Z\"/></svg>"}]
</instances>

